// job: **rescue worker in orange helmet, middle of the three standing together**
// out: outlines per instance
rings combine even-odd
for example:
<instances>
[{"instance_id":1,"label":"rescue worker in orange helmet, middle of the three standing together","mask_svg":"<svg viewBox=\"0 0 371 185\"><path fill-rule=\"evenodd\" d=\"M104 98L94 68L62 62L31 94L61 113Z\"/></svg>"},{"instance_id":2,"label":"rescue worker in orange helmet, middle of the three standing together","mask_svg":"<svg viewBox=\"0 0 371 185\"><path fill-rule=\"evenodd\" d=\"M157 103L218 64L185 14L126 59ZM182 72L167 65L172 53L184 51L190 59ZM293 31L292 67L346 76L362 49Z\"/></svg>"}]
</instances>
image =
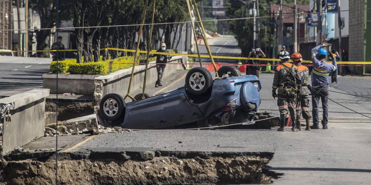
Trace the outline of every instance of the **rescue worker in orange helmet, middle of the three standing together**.
<instances>
[{"instance_id":1,"label":"rescue worker in orange helmet, middle of the three standing together","mask_svg":"<svg viewBox=\"0 0 371 185\"><path fill-rule=\"evenodd\" d=\"M298 100L296 102L296 126L299 130L301 130L301 115L303 114L303 118L306 122L305 130L311 130L309 127L310 122L309 120L312 118L311 114L309 113L309 98L308 95L310 93L308 89L308 85L306 82L309 78L309 70L308 67L301 64L303 57L300 53L294 53L291 55L293 63L298 67L298 74L301 78L302 84L301 88L299 89L298 93Z\"/></svg>"}]
</instances>

